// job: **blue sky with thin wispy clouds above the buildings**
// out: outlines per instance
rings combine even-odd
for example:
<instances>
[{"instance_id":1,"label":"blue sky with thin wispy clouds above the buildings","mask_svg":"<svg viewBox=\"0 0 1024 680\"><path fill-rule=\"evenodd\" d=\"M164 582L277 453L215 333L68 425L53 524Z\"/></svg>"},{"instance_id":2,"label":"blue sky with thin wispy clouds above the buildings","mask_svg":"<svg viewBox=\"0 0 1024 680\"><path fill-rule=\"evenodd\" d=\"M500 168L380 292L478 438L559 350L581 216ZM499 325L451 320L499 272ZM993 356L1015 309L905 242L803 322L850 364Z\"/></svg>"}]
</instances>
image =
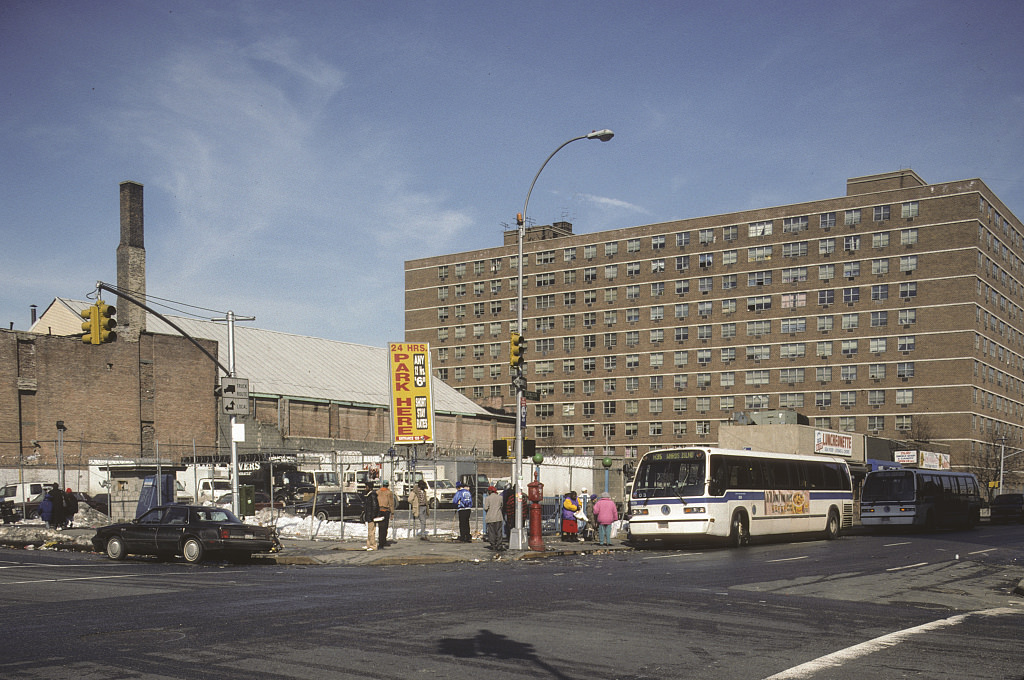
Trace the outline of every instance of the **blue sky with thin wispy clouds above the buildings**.
<instances>
[{"instance_id":1,"label":"blue sky with thin wispy clouds above the buildings","mask_svg":"<svg viewBox=\"0 0 1024 680\"><path fill-rule=\"evenodd\" d=\"M913 168L1024 217L1024 3L0 0L0 323L116 283L403 338L403 262L841 196ZM168 311L167 309L163 309Z\"/></svg>"}]
</instances>

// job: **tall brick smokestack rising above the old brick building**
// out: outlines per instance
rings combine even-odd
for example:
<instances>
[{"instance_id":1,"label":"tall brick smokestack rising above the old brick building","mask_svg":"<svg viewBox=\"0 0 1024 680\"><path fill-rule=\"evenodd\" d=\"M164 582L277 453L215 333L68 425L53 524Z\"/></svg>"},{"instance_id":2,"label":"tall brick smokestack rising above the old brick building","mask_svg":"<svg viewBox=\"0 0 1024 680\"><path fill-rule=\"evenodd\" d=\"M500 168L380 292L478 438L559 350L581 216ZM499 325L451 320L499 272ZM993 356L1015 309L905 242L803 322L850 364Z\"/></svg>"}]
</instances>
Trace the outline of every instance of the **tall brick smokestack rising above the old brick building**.
<instances>
[{"instance_id":1,"label":"tall brick smokestack rising above the old brick building","mask_svg":"<svg viewBox=\"0 0 1024 680\"><path fill-rule=\"evenodd\" d=\"M145 303L145 247L142 229L142 185L121 182L121 244L118 246L118 288ZM138 342L145 332L145 310L118 300L118 339Z\"/></svg>"}]
</instances>

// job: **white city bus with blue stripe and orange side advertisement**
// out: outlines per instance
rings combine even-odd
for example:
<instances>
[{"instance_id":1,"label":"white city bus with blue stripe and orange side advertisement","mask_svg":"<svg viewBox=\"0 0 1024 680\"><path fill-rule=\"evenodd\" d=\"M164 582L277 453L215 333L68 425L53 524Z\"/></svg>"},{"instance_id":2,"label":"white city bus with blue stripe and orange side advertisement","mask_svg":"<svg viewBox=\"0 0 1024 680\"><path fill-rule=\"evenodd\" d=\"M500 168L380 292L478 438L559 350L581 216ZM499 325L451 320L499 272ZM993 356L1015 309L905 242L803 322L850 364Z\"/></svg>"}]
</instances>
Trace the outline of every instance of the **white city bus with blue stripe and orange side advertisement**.
<instances>
[{"instance_id":1,"label":"white city bus with blue stripe and orange side advertisement","mask_svg":"<svg viewBox=\"0 0 1024 680\"><path fill-rule=\"evenodd\" d=\"M651 451L640 459L630 498L637 543L822 533L853 524L853 484L841 458L707 447Z\"/></svg>"}]
</instances>

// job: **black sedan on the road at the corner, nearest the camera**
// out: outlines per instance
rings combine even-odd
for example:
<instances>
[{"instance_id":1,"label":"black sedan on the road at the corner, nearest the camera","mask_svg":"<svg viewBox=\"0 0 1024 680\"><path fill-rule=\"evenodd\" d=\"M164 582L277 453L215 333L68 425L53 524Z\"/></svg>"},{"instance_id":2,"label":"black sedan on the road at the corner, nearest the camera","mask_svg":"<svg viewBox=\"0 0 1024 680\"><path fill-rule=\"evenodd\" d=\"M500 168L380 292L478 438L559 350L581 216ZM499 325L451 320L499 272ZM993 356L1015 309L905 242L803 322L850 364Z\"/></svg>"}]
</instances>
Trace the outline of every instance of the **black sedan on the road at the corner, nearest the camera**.
<instances>
[{"instance_id":1,"label":"black sedan on the road at the corner, nearest the camera","mask_svg":"<svg viewBox=\"0 0 1024 680\"><path fill-rule=\"evenodd\" d=\"M230 510L200 505L159 506L131 522L100 527L92 545L111 559L181 555L191 563L208 556L245 561L280 547L273 527L244 524Z\"/></svg>"}]
</instances>

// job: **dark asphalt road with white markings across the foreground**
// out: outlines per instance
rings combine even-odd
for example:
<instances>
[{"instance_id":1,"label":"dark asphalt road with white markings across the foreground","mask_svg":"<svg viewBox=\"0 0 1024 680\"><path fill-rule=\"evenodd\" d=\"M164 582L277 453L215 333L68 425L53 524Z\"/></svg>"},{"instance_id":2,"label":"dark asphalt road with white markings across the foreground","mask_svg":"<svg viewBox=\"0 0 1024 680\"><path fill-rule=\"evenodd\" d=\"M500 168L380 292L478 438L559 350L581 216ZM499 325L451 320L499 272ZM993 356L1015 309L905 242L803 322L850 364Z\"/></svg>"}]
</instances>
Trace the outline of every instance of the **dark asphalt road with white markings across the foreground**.
<instances>
[{"instance_id":1,"label":"dark asphalt road with white markings across the foreground","mask_svg":"<svg viewBox=\"0 0 1024 680\"><path fill-rule=\"evenodd\" d=\"M1024 677L1024 526L352 567L0 551L0 677Z\"/></svg>"}]
</instances>

